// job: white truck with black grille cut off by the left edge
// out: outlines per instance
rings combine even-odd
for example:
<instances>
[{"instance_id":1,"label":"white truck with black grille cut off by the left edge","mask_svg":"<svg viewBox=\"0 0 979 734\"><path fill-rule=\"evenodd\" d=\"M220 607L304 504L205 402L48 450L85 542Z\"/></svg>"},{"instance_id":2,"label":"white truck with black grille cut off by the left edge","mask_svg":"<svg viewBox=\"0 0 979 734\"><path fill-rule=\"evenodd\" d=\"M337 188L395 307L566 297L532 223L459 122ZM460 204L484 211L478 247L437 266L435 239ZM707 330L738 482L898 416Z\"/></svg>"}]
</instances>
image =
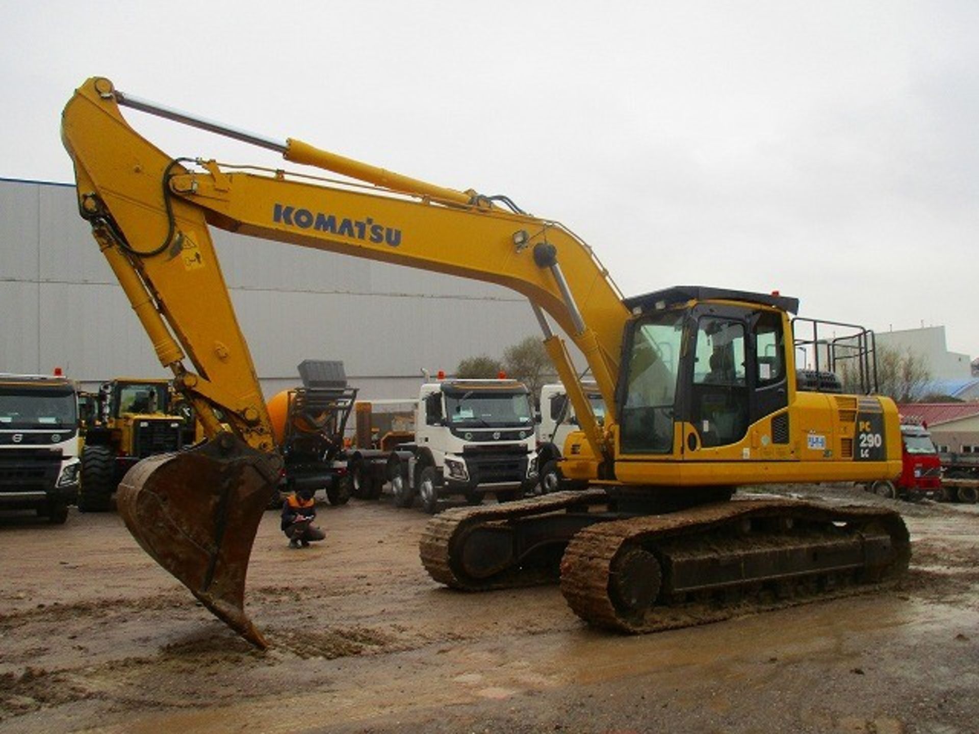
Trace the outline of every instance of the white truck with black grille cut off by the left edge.
<instances>
[{"instance_id":1,"label":"white truck with black grille cut off by the left edge","mask_svg":"<svg viewBox=\"0 0 979 734\"><path fill-rule=\"evenodd\" d=\"M64 377L0 374L0 509L68 519L78 497L77 400Z\"/></svg>"}]
</instances>

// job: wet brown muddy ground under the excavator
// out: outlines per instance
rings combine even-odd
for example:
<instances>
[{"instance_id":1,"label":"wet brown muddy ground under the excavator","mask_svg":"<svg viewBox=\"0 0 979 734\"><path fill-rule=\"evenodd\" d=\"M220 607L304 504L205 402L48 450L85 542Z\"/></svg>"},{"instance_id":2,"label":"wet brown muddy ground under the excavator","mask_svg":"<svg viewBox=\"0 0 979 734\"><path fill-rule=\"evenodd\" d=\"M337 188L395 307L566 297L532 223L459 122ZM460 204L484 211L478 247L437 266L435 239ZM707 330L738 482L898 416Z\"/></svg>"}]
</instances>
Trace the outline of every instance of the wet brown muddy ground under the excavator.
<instances>
[{"instance_id":1,"label":"wet brown muddy ground under the excavator","mask_svg":"<svg viewBox=\"0 0 979 734\"><path fill-rule=\"evenodd\" d=\"M796 490L797 492L799 490ZM0 732L979 731L977 506L899 507L885 593L644 637L587 628L555 586L464 594L424 572L426 516L320 507L324 543L258 530L258 653L116 514L0 520Z\"/></svg>"}]
</instances>

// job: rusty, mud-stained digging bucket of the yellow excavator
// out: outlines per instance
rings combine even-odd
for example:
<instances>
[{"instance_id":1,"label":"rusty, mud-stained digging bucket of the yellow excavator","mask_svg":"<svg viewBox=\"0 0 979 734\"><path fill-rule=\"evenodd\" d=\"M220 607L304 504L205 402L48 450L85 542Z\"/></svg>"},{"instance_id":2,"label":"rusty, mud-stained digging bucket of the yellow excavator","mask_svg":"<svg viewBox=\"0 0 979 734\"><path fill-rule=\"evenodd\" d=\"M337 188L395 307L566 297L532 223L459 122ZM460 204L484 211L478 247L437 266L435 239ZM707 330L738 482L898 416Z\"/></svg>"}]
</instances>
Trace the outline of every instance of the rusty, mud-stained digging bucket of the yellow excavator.
<instances>
[{"instance_id":1,"label":"rusty, mud-stained digging bucket of the yellow excavator","mask_svg":"<svg viewBox=\"0 0 979 734\"><path fill-rule=\"evenodd\" d=\"M136 541L204 605L259 648L245 614L245 575L278 473L231 434L143 459L119 483L117 504Z\"/></svg>"}]
</instances>

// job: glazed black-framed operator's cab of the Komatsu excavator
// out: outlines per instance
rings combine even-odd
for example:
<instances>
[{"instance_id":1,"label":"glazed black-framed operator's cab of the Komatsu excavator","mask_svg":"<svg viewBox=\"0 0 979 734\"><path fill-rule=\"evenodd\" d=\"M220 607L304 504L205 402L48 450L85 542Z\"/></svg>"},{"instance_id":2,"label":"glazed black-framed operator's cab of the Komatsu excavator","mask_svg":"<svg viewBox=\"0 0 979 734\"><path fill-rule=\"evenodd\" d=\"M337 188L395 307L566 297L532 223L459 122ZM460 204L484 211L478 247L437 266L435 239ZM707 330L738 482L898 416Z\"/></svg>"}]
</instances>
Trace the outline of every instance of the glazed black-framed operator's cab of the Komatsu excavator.
<instances>
[{"instance_id":1,"label":"glazed black-framed operator's cab of the Komatsu excavator","mask_svg":"<svg viewBox=\"0 0 979 734\"><path fill-rule=\"evenodd\" d=\"M731 446L787 408L785 312L796 302L707 288L627 301L636 316L624 340L618 453L680 458Z\"/></svg>"}]
</instances>

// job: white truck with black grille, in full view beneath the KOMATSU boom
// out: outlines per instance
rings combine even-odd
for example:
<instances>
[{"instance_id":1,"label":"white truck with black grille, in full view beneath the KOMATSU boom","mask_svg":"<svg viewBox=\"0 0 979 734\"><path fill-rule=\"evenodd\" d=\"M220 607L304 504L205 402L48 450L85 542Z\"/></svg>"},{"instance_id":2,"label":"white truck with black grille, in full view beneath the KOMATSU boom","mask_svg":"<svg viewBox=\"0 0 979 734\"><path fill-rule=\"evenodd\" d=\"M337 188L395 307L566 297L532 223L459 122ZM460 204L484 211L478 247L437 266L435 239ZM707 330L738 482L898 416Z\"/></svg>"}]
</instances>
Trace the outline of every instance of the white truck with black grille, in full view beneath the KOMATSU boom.
<instances>
[{"instance_id":1,"label":"white truck with black grille, in full view beneath the KOMATSU boom","mask_svg":"<svg viewBox=\"0 0 979 734\"><path fill-rule=\"evenodd\" d=\"M524 496L537 481L529 390L516 380L425 383L414 442L400 446L398 457L389 476L402 506L416 493L429 513L444 496L462 495L469 504L489 493L500 502Z\"/></svg>"}]
</instances>

